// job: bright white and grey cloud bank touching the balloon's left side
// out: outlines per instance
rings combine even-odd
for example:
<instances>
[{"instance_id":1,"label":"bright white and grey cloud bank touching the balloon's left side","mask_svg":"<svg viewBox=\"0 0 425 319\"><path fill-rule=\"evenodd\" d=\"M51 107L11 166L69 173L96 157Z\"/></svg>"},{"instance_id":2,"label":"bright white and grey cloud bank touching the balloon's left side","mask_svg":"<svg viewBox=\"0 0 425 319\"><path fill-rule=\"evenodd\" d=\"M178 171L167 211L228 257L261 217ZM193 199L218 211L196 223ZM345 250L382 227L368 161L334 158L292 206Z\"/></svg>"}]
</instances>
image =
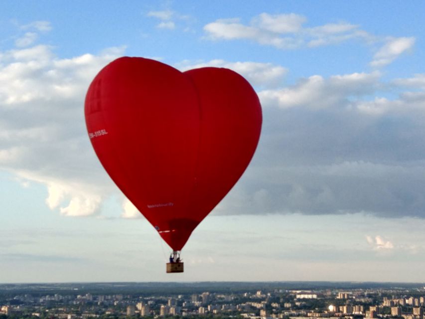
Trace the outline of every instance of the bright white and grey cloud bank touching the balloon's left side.
<instances>
[{"instance_id":1,"label":"bright white and grey cloud bank touching the balloon's left side","mask_svg":"<svg viewBox=\"0 0 425 319\"><path fill-rule=\"evenodd\" d=\"M96 214L114 192L90 149L83 106L90 81L122 53L60 59L46 45L0 52L0 167L45 184L47 206L63 215Z\"/></svg>"}]
</instances>

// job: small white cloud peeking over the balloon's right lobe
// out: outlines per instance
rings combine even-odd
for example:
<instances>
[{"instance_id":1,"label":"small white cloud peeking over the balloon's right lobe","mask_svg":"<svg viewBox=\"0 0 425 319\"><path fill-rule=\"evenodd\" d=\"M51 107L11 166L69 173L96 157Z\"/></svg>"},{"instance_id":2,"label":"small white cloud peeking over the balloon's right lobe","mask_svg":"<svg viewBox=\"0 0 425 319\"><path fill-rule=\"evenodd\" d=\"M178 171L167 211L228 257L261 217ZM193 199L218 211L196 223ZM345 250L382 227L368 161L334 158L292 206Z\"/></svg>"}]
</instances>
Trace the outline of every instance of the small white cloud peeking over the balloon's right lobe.
<instances>
[{"instance_id":1,"label":"small white cloud peeking over the balloon's right lobe","mask_svg":"<svg viewBox=\"0 0 425 319\"><path fill-rule=\"evenodd\" d=\"M276 88L283 84L287 69L272 63L260 62L229 62L224 60L211 60L202 63L183 61L177 65L182 70L190 70L207 66L228 68L244 76L253 86Z\"/></svg>"}]
</instances>

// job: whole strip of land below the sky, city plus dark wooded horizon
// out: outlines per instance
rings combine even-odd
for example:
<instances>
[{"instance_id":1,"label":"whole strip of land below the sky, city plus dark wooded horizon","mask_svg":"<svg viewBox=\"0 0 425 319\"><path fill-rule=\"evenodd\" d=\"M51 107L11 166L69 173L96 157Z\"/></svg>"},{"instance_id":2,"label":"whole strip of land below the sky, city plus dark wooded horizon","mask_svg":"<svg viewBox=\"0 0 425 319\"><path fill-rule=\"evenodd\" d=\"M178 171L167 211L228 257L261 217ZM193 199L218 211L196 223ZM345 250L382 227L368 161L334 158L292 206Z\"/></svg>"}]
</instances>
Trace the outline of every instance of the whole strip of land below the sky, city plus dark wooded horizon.
<instances>
[{"instance_id":1,"label":"whole strip of land below the sky, city plus dark wooded horizon","mask_svg":"<svg viewBox=\"0 0 425 319\"><path fill-rule=\"evenodd\" d=\"M0 319L423 319L424 284L2 284Z\"/></svg>"}]
</instances>

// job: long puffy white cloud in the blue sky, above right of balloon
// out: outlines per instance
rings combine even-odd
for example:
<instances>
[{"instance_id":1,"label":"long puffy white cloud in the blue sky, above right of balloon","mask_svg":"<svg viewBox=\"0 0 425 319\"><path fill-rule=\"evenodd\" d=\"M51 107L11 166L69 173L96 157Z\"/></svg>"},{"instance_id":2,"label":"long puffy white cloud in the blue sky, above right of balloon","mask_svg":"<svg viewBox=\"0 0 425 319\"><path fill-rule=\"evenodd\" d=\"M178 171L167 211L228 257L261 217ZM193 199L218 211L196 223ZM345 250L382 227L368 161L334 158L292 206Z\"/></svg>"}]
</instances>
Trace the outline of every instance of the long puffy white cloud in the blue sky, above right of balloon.
<instances>
[{"instance_id":1,"label":"long puffy white cloud in the blue sky, above right of balloon","mask_svg":"<svg viewBox=\"0 0 425 319\"><path fill-rule=\"evenodd\" d=\"M369 39L371 37L358 25L347 22L304 27L303 24L306 21L306 17L295 13L261 13L248 25L243 24L239 18L217 19L206 24L204 31L207 33L207 38L212 40L248 39L279 49L322 46L353 38Z\"/></svg>"}]
</instances>

